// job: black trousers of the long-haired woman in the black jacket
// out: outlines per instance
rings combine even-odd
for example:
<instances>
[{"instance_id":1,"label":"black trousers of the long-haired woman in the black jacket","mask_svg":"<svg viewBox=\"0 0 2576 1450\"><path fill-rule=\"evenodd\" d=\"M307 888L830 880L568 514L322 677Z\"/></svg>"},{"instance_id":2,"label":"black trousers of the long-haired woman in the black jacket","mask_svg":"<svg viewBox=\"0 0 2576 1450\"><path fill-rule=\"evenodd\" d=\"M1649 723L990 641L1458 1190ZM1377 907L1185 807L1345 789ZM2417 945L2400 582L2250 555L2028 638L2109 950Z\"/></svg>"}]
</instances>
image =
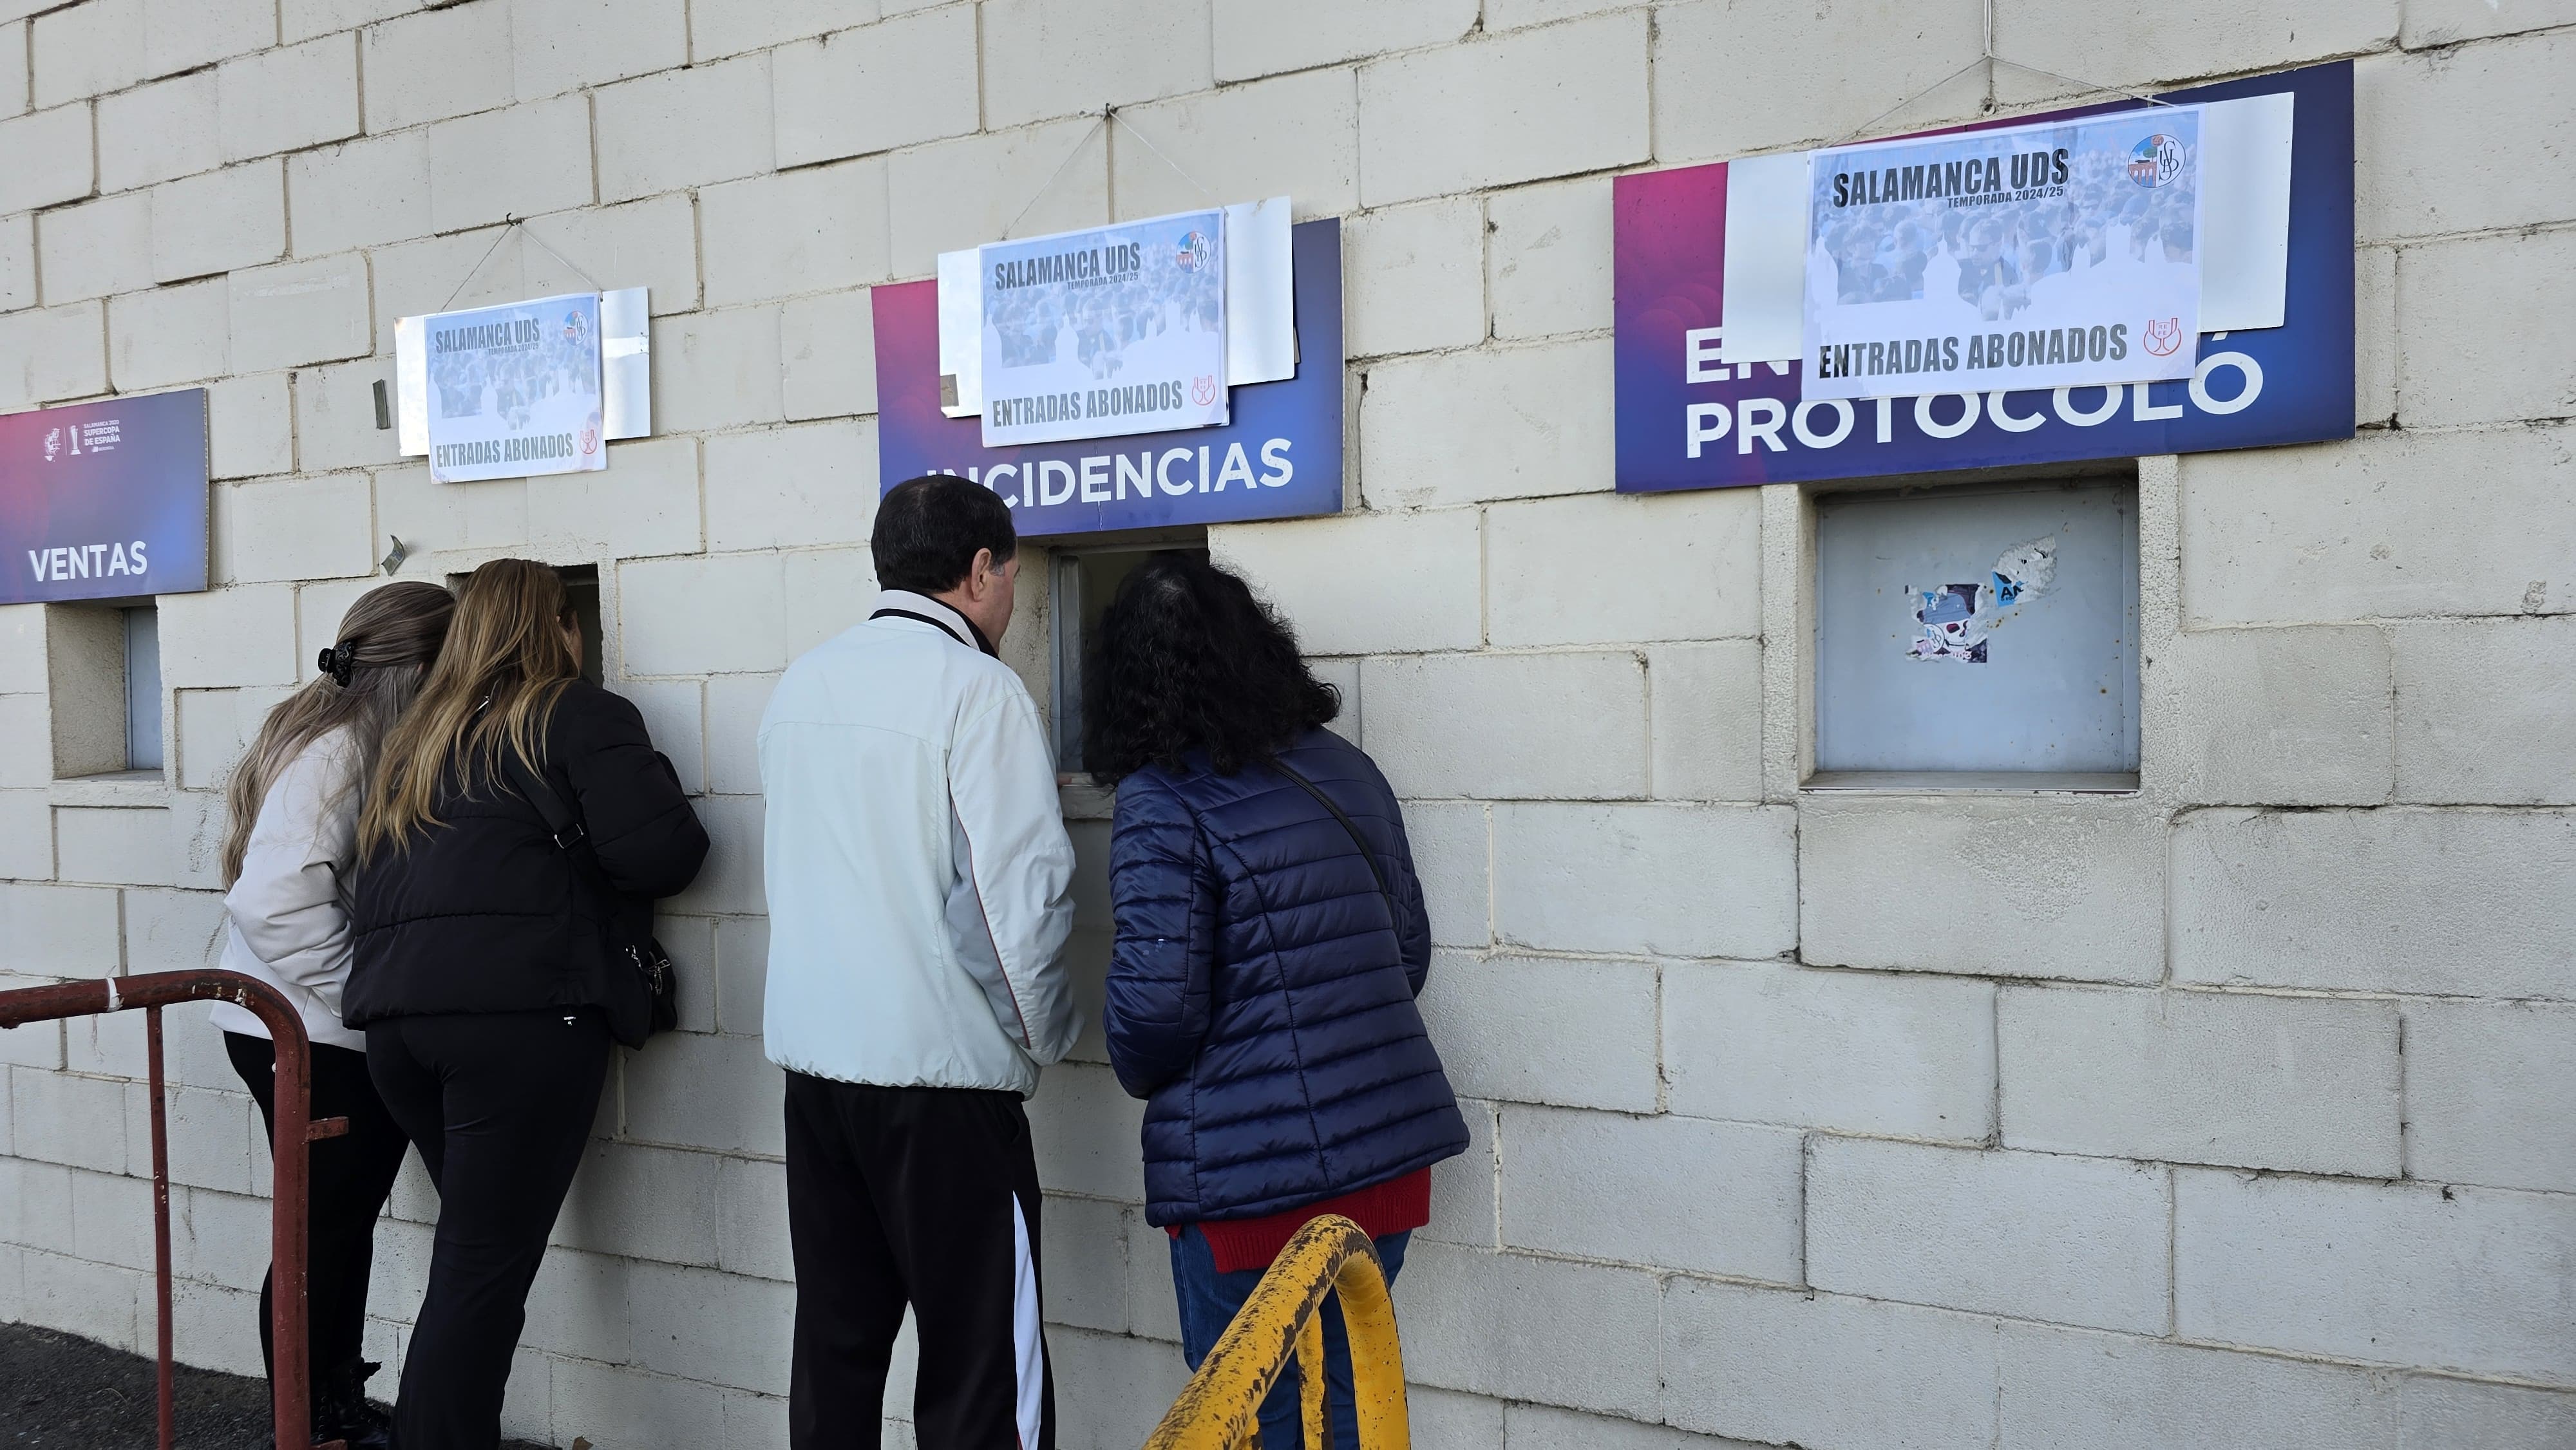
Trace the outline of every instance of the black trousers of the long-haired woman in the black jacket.
<instances>
[{"instance_id":1,"label":"black trousers of the long-haired woman in the black jacket","mask_svg":"<svg viewBox=\"0 0 2576 1450\"><path fill-rule=\"evenodd\" d=\"M430 1288L394 1401L402 1450L492 1450L528 1283L608 1074L592 1010L392 1017L366 1061L438 1185Z\"/></svg>"}]
</instances>

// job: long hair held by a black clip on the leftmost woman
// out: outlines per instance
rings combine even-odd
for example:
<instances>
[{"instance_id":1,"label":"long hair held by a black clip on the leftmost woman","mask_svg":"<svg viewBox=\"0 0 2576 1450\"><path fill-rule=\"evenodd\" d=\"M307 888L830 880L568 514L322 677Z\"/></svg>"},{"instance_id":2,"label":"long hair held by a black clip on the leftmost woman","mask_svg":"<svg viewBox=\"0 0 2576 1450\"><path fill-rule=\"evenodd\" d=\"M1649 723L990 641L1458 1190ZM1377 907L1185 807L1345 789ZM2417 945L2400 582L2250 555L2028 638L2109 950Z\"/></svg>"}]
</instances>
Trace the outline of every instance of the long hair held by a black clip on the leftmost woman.
<instances>
[{"instance_id":1,"label":"long hair held by a black clip on the leftmost woman","mask_svg":"<svg viewBox=\"0 0 2576 1450\"><path fill-rule=\"evenodd\" d=\"M340 793L358 788L374 773L384 737L420 693L420 675L438 659L453 613L456 595L417 579L371 590L348 605L340 636L322 652L322 675L268 711L250 752L224 783L224 809L232 814L224 832L224 889L242 878L250 829L260 819L268 788L304 755L304 747L345 729L355 757ZM348 683L340 683L343 672ZM337 804L337 796L330 804Z\"/></svg>"}]
</instances>

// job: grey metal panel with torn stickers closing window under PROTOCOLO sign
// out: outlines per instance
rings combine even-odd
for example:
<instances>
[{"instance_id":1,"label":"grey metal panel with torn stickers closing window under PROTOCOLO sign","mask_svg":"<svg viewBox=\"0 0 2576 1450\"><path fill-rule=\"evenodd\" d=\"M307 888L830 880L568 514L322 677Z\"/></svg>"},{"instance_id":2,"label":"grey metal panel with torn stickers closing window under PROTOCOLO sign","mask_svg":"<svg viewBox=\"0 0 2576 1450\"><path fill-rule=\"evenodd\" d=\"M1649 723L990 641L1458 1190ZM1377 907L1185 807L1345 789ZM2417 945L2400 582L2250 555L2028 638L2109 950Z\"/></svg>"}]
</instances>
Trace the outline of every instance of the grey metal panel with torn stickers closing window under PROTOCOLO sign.
<instances>
[{"instance_id":1,"label":"grey metal panel with torn stickers closing window under PROTOCOLO sign","mask_svg":"<svg viewBox=\"0 0 2576 1450\"><path fill-rule=\"evenodd\" d=\"M1986 659L1919 659L1917 590L1991 585L2053 541ZM1816 518L1816 770L2138 767L2138 518L2128 484L1826 500Z\"/></svg>"}]
</instances>

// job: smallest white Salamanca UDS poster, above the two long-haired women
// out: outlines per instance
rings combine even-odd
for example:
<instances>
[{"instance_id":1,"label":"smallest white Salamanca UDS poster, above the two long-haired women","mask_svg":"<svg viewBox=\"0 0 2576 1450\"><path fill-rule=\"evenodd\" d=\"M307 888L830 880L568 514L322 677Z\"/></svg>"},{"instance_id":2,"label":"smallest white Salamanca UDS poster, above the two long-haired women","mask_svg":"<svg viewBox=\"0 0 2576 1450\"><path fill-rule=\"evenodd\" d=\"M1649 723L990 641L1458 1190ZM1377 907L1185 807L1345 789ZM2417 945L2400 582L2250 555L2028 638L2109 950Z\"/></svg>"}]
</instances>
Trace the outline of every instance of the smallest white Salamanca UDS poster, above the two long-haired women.
<instances>
[{"instance_id":1,"label":"smallest white Salamanca UDS poster, above the two long-haired women","mask_svg":"<svg viewBox=\"0 0 2576 1450\"><path fill-rule=\"evenodd\" d=\"M440 484L608 466L600 294L440 312L428 340L430 476Z\"/></svg>"}]
</instances>

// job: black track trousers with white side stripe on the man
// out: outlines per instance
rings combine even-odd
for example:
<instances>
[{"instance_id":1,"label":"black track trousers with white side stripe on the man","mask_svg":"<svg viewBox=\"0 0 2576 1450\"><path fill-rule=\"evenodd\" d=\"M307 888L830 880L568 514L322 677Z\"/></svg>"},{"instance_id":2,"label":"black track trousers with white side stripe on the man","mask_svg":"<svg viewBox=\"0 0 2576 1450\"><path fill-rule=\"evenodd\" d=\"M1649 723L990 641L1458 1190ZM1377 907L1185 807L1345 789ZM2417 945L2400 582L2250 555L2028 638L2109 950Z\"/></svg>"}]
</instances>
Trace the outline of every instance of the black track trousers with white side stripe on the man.
<instances>
[{"instance_id":1,"label":"black track trousers with white side stripe on the man","mask_svg":"<svg viewBox=\"0 0 2576 1450\"><path fill-rule=\"evenodd\" d=\"M912 1306L922 1450L1054 1450L1038 1332L1038 1159L1018 1092L788 1074L793 1450L878 1447ZM404 1447L410 1450L410 1445Z\"/></svg>"}]
</instances>

